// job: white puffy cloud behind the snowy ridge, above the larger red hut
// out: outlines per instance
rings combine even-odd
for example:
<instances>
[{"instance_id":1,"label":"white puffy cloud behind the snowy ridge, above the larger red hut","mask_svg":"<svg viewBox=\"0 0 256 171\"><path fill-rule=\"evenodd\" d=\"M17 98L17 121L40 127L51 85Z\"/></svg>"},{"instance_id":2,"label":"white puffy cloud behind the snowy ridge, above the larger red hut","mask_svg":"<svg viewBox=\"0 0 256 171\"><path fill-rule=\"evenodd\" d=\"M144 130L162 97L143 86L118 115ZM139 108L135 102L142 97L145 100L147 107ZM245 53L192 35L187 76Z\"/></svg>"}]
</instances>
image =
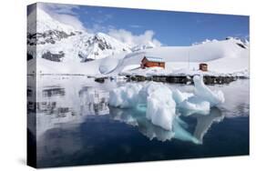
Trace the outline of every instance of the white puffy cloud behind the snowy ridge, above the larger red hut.
<instances>
[{"instance_id":1,"label":"white puffy cloud behind the snowy ridge, above the larger red hut","mask_svg":"<svg viewBox=\"0 0 256 171\"><path fill-rule=\"evenodd\" d=\"M141 35L133 35L131 32L124 29L110 29L108 35L111 35L130 46L145 45L148 44L148 42L151 42L156 46L161 45L159 40L154 38L155 33L152 30L146 30L144 34Z\"/></svg>"}]
</instances>

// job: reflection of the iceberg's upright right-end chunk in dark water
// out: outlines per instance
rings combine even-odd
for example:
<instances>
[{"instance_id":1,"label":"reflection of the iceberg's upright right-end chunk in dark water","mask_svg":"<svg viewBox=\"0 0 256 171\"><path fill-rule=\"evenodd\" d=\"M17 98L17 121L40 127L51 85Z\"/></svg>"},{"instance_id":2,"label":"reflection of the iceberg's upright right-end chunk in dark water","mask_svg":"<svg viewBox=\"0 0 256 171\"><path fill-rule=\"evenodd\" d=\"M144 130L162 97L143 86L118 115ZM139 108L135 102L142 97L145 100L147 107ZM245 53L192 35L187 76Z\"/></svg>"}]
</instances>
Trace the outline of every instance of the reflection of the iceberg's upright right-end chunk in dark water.
<instances>
[{"instance_id":1,"label":"reflection of the iceberg's upright right-end chunk in dark water","mask_svg":"<svg viewBox=\"0 0 256 171\"><path fill-rule=\"evenodd\" d=\"M197 115L197 126L194 131L194 136L200 140L202 143L203 136L210 129L210 126L213 122L220 122L224 118L224 115L221 113L220 109L213 107L210 109L210 114L208 116Z\"/></svg>"}]
</instances>

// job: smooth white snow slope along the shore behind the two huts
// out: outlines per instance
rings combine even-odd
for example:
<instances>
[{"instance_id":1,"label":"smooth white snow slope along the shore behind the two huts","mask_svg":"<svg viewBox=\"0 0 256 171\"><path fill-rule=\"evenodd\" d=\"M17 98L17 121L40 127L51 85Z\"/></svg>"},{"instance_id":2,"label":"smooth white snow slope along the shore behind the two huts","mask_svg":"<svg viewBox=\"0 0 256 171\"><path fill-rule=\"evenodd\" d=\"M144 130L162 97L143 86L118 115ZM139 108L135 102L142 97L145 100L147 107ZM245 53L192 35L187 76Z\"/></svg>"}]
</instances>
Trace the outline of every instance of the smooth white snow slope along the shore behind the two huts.
<instances>
[{"instance_id":1,"label":"smooth white snow slope along the shore behind the two huts","mask_svg":"<svg viewBox=\"0 0 256 171\"><path fill-rule=\"evenodd\" d=\"M87 63L60 65L41 58L37 60L36 69L45 74L83 74L83 75L193 75L198 72L200 63L207 63L209 75L249 75L249 43L243 47L241 40L227 39L190 46L161 46L138 50L131 53L120 53ZM144 56L161 57L165 69L152 67L139 68ZM29 61L29 65L33 61Z\"/></svg>"}]
</instances>

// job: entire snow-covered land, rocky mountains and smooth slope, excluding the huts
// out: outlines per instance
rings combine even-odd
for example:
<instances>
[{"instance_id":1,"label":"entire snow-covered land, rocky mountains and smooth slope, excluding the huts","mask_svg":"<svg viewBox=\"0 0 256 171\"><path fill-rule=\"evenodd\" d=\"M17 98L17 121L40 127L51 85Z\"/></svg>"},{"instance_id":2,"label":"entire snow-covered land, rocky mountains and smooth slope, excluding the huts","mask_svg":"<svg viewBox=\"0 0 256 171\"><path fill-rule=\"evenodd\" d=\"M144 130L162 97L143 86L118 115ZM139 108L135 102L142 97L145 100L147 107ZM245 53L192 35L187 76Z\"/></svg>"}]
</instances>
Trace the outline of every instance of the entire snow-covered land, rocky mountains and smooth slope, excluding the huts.
<instances>
[{"instance_id":1,"label":"entire snow-covered land, rocky mountains and smooth slope, excluding the huts","mask_svg":"<svg viewBox=\"0 0 256 171\"><path fill-rule=\"evenodd\" d=\"M28 65L37 64L39 74L195 75L201 74L199 64L207 63L209 72L205 75L249 75L250 44L238 38L190 46L155 46L149 42L130 49L104 33L89 34L64 25L40 8L28 20L35 20L36 12L36 25L34 22L28 27L27 49L28 56L33 56ZM163 58L165 69L139 68L145 55Z\"/></svg>"}]
</instances>

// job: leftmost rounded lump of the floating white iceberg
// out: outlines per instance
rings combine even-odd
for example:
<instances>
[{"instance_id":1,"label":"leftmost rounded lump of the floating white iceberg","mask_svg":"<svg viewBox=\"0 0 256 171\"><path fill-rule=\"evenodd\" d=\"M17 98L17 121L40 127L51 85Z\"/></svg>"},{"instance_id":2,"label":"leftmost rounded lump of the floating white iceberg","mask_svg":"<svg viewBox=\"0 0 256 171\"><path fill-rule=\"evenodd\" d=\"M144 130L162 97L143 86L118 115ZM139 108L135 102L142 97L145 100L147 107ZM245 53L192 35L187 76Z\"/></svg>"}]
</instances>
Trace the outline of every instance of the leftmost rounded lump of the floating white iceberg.
<instances>
[{"instance_id":1,"label":"leftmost rounded lump of the floating white iceberg","mask_svg":"<svg viewBox=\"0 0 256 171\"><path fill-rule=\"evenodd\" d=\"M136 106L138 103L138 92L142 88L142 85L127 84L113 89L109 93L109 105L128 108Z\"/></svg>"}]
</instances>

